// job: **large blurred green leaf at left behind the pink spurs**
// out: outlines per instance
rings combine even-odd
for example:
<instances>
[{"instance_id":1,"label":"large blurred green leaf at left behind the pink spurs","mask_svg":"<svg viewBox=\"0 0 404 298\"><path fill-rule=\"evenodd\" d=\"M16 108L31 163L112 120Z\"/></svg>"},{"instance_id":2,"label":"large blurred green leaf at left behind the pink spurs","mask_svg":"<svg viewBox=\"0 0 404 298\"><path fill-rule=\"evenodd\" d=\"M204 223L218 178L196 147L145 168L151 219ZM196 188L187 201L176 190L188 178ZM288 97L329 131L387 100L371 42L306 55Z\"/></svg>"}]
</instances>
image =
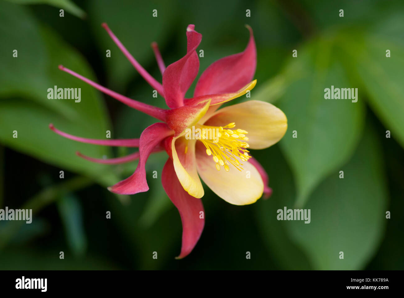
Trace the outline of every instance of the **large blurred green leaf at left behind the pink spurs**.
<instances>
[{"instance_id":1,"label":"large blurred green leaf at left behind the pink spurs","mask_svg":"<svg viewBox=\"0 0 404 298\"><path fill-rule=\"evenodd\" d=\"M112 166L93 164L75 155L80 151L101 158L110 155L108 147L71 141L48 128L53 123L70 134L94 139L105 138L106 130L113 132L99 92L57 67L63 63L94 79L86 61L53 31L40 28L27 8L0 2L0 14L0 37L5 45L0 49L4 66L0 74L0 142L61 170L86 174L103 184L116 183ZM13 49L18 50L17 57L13 57ZM55 85L81 88L81 102L48 99L47 90ZM13 138L14 130L17 138Z\"/></svg>"}]
</instances>

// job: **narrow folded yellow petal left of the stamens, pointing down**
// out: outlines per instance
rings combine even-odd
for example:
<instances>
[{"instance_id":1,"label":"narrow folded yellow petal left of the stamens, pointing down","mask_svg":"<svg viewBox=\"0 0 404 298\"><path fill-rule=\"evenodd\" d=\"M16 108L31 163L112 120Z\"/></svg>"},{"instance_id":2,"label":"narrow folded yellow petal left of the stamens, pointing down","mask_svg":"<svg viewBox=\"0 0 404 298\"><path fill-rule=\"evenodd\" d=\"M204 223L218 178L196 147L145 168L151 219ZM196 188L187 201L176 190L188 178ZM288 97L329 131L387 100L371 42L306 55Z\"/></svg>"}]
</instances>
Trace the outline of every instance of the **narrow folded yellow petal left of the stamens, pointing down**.
<instances>
[{"instance_id":1,"label":"narrow folded yellow petal left of the stamens, pointing down","mask_svg":"<svg viewBox=\"0 0 404 298\"><path fill-rule=\"evenodd\" d=\"M174 169L182 187L189 195L201 198L204 190L196 170L195 143L196 140L186 140L184 137L173 138L171 149Z\"/></svg>"}]
</instances>

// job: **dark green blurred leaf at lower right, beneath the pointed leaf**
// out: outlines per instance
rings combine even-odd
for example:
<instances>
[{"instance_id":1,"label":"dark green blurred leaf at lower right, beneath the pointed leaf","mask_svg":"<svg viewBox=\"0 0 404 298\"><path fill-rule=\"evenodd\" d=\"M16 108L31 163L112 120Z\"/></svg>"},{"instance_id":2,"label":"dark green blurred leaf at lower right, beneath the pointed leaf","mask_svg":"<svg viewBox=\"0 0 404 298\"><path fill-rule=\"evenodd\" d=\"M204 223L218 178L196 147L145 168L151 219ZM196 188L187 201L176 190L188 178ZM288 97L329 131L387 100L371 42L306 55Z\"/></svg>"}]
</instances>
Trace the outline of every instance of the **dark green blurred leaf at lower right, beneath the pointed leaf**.
<instances>
[{"instance_id":1,"label":"dark green blurred leaf at lower right, beneath the pointed leaf","mask_svg":"<svg viewBox=\"0 0 404 298\"><path fill-rule=\"evenodd\" d=\"M355 154L341 167L344 178L336 171L310 196L305 206L311 210L310 223L284 222L314 269L363 269L375 254L387 223L381 156L377 135L368 125Z\"/></svg>"}]
</instances>

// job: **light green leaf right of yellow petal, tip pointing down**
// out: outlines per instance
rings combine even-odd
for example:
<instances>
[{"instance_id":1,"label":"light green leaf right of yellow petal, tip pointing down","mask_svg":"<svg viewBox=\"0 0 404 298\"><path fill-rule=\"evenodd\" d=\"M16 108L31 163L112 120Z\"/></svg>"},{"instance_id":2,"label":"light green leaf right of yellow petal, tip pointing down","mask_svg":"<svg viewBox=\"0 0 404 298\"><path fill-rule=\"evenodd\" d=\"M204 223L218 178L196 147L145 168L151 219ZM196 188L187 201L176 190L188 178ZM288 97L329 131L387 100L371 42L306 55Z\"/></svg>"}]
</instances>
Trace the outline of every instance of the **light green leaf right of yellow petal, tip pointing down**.
<instances>
[{"instance_id":1,"label":"light green leaf right of yellow petal, tip pointing down","mask_svg":"<svg viewBox=\"0 0 404 298\"><path fill-rule=\"evenodd\" d=\"M280 145L295 176L297 206L347 161L362 131L362 99L324 99L325 88L351 87L338 57L332 36L324 37L298 50L285 70L288 86L278 106L288 118L288 131Z\"/></svg>"}]
</instances>

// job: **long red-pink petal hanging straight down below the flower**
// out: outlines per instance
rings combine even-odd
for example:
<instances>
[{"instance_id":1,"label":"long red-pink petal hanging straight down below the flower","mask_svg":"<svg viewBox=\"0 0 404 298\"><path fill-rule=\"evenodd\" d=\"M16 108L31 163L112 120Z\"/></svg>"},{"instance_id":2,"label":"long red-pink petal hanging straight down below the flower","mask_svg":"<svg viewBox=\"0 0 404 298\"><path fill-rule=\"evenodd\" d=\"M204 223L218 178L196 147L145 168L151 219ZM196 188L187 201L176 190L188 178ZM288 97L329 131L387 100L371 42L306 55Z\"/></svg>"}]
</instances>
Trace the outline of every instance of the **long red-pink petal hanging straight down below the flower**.
<instances>
[{"instance_id":1,"label":"long red-pink petal hanging straight down below the flower","mask_svg":"<svg viewBox=\"0 0 404 298\"><path fill-rule=\"evenodd\" d=\"M182 245L178 259L187 256L198 242L205 225L201 199L189 195L179 183L173 161L168 159L162 172L162 185L168 197L177 207L182 222Z\"/></svg>"}]
</instances>

